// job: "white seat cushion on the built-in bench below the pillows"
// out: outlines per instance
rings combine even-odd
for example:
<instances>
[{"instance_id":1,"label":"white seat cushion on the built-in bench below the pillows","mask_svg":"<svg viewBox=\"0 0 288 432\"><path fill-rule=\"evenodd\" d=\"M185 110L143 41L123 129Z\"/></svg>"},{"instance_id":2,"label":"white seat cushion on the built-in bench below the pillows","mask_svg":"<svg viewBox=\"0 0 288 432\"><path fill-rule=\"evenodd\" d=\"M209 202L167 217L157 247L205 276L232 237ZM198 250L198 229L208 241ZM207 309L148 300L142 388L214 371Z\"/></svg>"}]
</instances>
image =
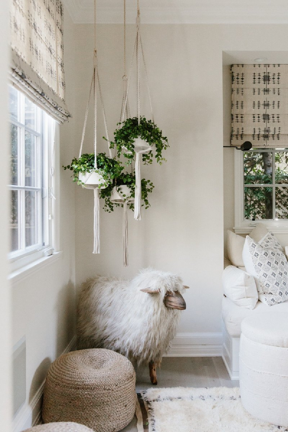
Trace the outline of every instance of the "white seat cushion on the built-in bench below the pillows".
<instances>
[{"instance_id":1,"label":"white seat cushion on the built-in bench below the pillows","mask_svg":"<svg viewBox=\"0 0 288 432\"><path fill-rule=\"evenodd\" d=\"M288 321L288 301L274 305L273 308L269 308L269 306L265 305L262 302L257 302L255 308L250 311L247 308L235 305L235 303L227 297L223 297L222 318L228 333L232 337L240 337L241 323L244 318L253 316L254 314L259 312L267 311L269 312L269 314L272 312L286 312Z\"/></svg>"}]
</instances>

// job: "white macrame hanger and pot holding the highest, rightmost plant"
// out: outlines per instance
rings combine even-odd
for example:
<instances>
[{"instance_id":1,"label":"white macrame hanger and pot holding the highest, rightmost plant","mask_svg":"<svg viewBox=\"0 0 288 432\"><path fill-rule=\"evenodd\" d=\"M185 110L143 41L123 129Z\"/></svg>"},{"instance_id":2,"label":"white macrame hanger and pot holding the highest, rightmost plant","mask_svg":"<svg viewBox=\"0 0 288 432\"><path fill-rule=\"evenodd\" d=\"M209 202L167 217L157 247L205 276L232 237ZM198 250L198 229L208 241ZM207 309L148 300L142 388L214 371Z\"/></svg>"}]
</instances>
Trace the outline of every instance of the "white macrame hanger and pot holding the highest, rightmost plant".
<instances>
[{"instance_id":1,"label":"white macrame hanger and pot holding the highest, rightmost plant","mask_svg":"<svg viewBox=\"0 0 288 432\"><path fill-rule=\"evenodd\" d=\"M150 89L149 89L149 81L148 81L148 74L147 74L147 68L146 68L146 62L144 57L144 51L143 51L143 44L141 39L141 32L140 32L140 8L139 8L139 0L137 0L137 16L136 16L136 40L134 44L133 49L133 55L131 60L131 66L130 66L130 72L129 72L129 78L127 82L127 91L126 91L126 97L124 106L122 107L122 117L121 122L124 121L124 116L128 104L128 93L129 93L129 87L130 87L130 80L132 75L132 68L133 68L133 60L136 54L136 73L137 73L137 114L138 114L138 124L140 124L140 52L142 54L143 59L143 65L144 65L144 72L146 76L146 84L147 84L147 90L148 90L148 96L149 96L149 102L150 102L150 108L151 108L151 115L152 115L152 121L154 123L154 115L153 115L153 109L152 109L152 102L151 102L151 95L150 95ZM129 110L129 108L128 108ZM125 150L125 148L124 148ZM141 220L141 172L140 172L140 155L143 153L149 153L152 150L152 147L149 146L149 144L142 140L140 137L136 138L134 142L134 150L136 153L136 160L135 160L135 200L134 200L134 219Z\"/></svg>"}]
</instances>

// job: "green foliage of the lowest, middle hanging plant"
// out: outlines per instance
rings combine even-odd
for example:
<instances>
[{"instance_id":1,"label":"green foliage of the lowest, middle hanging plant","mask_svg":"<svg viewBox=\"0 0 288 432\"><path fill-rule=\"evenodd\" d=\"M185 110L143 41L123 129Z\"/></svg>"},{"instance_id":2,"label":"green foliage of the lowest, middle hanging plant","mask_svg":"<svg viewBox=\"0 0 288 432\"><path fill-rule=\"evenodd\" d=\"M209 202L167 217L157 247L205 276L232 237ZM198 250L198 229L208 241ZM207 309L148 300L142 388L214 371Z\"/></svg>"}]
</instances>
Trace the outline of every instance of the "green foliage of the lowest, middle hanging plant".
<instances>
[{"instance_id":1,"label":"green foliage of the lowest, middle hanging plant","mask_svg":"<svg viewBox=\"0 0 288 432\"><path fill-rule=\"evenodd\" d=\"M116 191L119 192L120 195L123 197L123 201L127 201L129 208L131 210L134 210L135 185L135 173L133 173L132 175L127 172L121 172L121 174L117 178L114 178L112 183L108 184L105 189L102 189L100 191L100 198L104 199L103 209L106 212L110 213L113 212L114 206L119 207L121 205L121 207L123 207L123 203L117 203L112 199L113 192L115 191L114 188L116 188ZM127 187L124 188L123 186ZM141 179L142 207L145 206L146 209L150 207L148 194L151 194L153 188L154 185L152 181L146 180L145 178Z\"/></svg>"}]
</instances>

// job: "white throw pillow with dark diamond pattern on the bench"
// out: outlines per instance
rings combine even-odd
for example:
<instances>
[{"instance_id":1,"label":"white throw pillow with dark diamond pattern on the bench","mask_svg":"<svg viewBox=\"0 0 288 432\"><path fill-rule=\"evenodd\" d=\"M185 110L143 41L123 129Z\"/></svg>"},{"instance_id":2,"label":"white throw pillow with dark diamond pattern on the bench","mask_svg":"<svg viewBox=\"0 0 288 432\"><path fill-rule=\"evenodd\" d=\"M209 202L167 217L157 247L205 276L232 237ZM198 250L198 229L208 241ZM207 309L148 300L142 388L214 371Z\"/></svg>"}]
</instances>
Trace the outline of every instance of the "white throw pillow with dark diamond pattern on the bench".
<instances>
[{"instance_id":1,"label":"white throw pillow with dark diamond pattern on the bench","mask_svg":"<svg viewBox=\"0 0 288 432\"><path fill-rule=\"evenodd\" d=\"M271 306L288 300L288 262L272 232L259 243L247 235L243 261L255 278L261 301Z\"/></svg>"}]
</instances>

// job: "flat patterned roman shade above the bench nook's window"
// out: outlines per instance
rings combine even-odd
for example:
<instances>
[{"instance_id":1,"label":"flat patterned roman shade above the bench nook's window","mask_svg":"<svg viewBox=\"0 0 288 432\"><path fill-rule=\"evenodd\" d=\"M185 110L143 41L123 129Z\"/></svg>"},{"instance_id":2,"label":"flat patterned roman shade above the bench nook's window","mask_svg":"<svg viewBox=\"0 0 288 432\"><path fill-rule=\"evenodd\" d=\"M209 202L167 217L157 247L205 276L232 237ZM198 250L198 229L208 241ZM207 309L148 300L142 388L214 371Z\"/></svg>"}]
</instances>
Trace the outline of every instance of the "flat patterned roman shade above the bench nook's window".
<instances>
[{"instance_id":1,"label":"flat patterned roman shade above the bench nook's window","mask_svg":"<svg viewBox=\"0 0 288 432\"><path fill-rule=\"evenodd\" d=\"M232 64L231 145L288 147L288 65Z\"/></svg>"}]
</instances>

